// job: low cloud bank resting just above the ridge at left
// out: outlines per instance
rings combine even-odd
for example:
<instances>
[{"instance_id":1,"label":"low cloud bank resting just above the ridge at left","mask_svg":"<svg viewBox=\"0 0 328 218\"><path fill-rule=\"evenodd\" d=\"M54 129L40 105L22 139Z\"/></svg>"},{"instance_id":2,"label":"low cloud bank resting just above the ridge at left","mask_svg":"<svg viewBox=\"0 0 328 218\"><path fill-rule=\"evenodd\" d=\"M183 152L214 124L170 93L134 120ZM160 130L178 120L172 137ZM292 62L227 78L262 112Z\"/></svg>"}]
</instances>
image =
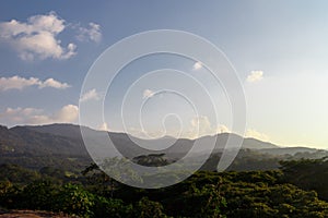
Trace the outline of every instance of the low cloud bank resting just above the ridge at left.
<instances>
[{"instance_id":1,"label":"low cloud bank resting just above the ridge at left","mask_svg":"<svg viewBox=\"0 0 328 218\"><path fill-rule=\"evenodd\" d=\"M79 108L74 105L63 106L52 114L45 114L38 108L7 108L0 113L2 123L14 124L49 124L49 123L71 123L78 119Z\"/></svg>"}]
</instances>

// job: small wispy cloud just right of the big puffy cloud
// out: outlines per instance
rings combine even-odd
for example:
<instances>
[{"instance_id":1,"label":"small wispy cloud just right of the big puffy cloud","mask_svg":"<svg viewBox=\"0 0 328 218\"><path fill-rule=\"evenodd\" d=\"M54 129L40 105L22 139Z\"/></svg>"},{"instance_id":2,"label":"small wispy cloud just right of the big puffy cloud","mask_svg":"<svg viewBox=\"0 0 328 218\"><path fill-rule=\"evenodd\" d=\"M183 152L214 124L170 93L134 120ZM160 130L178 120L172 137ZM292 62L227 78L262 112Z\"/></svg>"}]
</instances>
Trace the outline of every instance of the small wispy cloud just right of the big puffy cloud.
<instances>
[{"instance_id":1,"label":"small wispy cloud just right of the big puffy cloud","mask_svg":"<svg viewBox=\"0 0 328 218\"><path fill-rule=\"evenodd\" d=\"M78 31L80 32L77 38L80 41L95 41L99 43L102 40L102 32L101 32L101 25L96 23L89 23L87 27L78 27Z\"/></svg>"}]
</instances>

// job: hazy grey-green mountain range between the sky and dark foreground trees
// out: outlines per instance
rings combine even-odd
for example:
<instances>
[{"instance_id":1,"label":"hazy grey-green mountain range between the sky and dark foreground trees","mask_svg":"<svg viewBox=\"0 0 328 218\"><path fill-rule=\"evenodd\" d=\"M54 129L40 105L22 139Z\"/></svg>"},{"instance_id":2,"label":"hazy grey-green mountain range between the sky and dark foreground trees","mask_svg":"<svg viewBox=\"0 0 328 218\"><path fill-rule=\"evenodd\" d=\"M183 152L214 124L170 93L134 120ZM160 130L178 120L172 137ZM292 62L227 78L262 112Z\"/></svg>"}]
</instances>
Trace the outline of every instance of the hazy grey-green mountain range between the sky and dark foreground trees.
<instances>
[{"instance_id":1,"label":"hazy grey-green mountain range between the sky and dark foreground trees","mask_svg":"<svg viewBox=\"0 0 328 218\"><path fill-rule=\"evenodd\" d=\"M82 138L81 130L84 138ZM117 152L115 148L108 147L108 136L116 149L127 158L150 154L165 154L168 159L179 159L192 149L195 144L198 145L198 148L192 149L192 153L201 155L213 148L210 146L212 143L214 143L213 153L222 153L224 146L227 149L236 149L237 145L234 142L242 141L242 149L256 150L257 153L273 156L318 152L321 153L320 156L328 155L327 150L307 147L281 147L256 138L243 138L233 133L203 136L197 140L176 140L169 136L156 140L141 140L126 133L96 131L74 124L24 125L11 129L0 125L0 164L5 161L22 164L21 161L26 160L26 158L28 159L27 167L39 166L37 164L38 160L42 160L43 164L48 164L48 160L54 162L58 159L60 161L65 159L87 162L91 161L89 152L92 153L95 147L104 150L102 154L105 157L114 157ZM84 146L85 142L89 145L89 150ZM54 160L54 157L60 158ZM26 165L26 162L23 164Z\"/></svg>"}]
</instances>

